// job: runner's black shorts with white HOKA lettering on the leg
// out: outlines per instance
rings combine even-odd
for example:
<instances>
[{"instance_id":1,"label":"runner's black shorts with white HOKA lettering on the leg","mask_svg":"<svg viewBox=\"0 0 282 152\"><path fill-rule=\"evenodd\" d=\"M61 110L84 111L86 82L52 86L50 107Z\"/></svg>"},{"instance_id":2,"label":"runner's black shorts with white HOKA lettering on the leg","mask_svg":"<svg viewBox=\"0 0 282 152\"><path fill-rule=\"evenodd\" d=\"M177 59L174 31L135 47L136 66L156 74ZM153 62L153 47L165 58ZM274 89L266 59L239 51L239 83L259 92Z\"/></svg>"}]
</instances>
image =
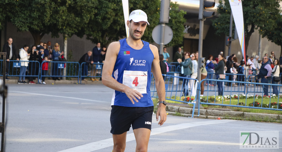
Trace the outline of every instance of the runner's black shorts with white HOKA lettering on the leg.
<instances>
[{"instance_id":1,"label":"runner's black shorts with white HOKA lettering on the leg","mask_svg":"<svg viewBox=\"0 0 282 152\"><path fill-rule=\"evenodd\" d=\"M152 115L154 106L149 107L125 107L125 106L112 106L111 110L111 133L120 135L129 131L130 126L132 129L152 128Z\"/></svg>"}]
</instances>

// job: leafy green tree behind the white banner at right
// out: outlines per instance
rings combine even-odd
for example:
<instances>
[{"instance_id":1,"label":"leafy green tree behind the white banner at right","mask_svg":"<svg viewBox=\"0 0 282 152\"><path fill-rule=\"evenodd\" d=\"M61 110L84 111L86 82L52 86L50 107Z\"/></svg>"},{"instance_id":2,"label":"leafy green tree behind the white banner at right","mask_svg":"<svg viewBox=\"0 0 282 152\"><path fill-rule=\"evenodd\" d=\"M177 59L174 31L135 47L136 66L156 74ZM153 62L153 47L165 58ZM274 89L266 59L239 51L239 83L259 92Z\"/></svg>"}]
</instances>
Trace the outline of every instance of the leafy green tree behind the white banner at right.
<instances>
[{"instance_id":1,"label":"leafy green tree behind the white banner at right","mask_svg":"<svg viewBox=\"0 0 282 152\"><path fill-rule=\"evenodd\" d=\"M259 33L263 34L266 30L273 30L276 26L276 20L279 17L281 0L244 0L243 15L245 28L245 48L247 51L249 40L255 30L259 29ZM229 35L230 13L231 8L228 0L219 1L217 8L221 15L213 20L212 26L215 28L215 34L224 33ZM250 28L249 28L250 26ZM235 25L233 24L233 28Z\"/></svg>"}]
</instances>

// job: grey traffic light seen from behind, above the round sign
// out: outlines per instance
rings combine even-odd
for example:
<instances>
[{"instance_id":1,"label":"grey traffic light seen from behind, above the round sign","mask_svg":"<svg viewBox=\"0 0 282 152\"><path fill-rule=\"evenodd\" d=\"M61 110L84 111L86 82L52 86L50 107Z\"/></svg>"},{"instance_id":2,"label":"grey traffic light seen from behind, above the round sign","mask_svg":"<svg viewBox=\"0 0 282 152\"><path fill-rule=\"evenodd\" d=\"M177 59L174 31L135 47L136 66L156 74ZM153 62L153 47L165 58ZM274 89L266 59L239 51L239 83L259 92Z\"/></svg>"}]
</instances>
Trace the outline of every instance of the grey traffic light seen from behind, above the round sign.
<instances>
[{"instance_id":1,"label":"grey traffic light seen from behind, above the round sign","mask_svg":"<svg viewBox=\"0 0 282 152\"><path fill-rule=\"evenodd\" d=\"M169 7L170 0L162 0L160 3L160 23L168 23L169 17Z\"/></svg>"}]
</instances>

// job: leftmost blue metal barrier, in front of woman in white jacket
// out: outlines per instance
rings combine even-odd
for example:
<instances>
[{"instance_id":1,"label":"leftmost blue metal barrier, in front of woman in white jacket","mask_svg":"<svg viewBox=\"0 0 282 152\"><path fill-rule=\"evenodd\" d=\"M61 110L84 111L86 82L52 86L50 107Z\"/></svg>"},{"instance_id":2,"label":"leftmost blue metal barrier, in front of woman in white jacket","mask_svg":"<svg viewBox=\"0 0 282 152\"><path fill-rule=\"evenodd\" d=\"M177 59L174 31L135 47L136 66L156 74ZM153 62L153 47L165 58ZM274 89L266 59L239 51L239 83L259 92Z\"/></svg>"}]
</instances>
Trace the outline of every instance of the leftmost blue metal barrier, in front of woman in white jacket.
<instances>
[{"instance_id":1,"label":"leftmost blue metal barrier, in front of woman in white jacket","mask_svg":"<svg viewBox=\"0 0 282 152\"><path fill-rule=\"evenodd\" d=\"M1 67L3 60L1 61ZM6 69L7 76L24 76L19 75L20 69L21 69L21 62L28 62L27 66L27 73L25 74L25 77L38 77L39 82L39 69L40 69L40 63L38 61L17 61L17 60L10 60L9 62L6 62L8 65L8 69ZM33 68L32 68L33 67ZM1 68L1 75L3 76L2 68Z\"/></svg>"}]
</instances>

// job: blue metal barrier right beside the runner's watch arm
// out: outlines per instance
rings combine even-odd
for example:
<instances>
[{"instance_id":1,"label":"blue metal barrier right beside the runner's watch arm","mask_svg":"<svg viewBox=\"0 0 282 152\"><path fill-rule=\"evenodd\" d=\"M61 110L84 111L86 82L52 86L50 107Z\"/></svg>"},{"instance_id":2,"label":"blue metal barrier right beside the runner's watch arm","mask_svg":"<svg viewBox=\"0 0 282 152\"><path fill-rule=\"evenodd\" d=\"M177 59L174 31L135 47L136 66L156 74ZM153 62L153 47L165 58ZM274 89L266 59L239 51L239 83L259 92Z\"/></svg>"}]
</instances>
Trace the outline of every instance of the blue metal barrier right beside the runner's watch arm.
<instances>
[{"instance_id":1,"label":"blue metal barrier right beside the runner's watch arm","mask_svg":"<svg viewBox=\"0 0 282 152\"><path fill-rule=\"evenodd\" d=\"M185 77L179 77L179 76L167 76L166 74L163 74L165 76L165 86L166 86L166 100L171 100L171 101L178 101L182 103L188 103L188 104L193 104L193 112L192 112L192 117L194 117L194 110L195 110L195 99L197 98L197 87L193 88L193 85L191 87L191 90L188 90L187 92L184 92L184 85L183 81L190 81L191 83L195 83L194 86L199 85L199 81L197 79L192 79L192 78L185 78ZM182 81L183 80L183 81ZM157 90L156 90L156 85L155 85L155 79L152 75L151 77L151 96L152 97L158 97L157 96ZM188 84L188 83L187 83ZM194 89L195 91L195 99L192 99L192 90ZM189 96L190 93L190 96ZM178 97L179 96L179 99Z\"/></svg>"}]
</instances>

